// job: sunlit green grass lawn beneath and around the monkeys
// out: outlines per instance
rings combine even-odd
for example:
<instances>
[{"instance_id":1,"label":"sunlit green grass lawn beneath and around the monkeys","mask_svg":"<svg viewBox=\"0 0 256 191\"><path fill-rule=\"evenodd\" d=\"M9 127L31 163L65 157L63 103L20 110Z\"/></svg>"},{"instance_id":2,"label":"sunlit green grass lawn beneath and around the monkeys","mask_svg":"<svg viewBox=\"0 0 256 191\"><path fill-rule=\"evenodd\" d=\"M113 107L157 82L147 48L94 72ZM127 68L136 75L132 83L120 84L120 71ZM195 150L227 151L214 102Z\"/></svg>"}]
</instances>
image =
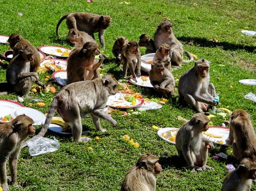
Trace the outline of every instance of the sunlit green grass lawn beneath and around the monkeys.
<instances>
[{"instance_id":1,"label":"sunlit green grass lawn beneath and around the monkeys","mask_svg":"<svg viewBox=\"0 0 256 191\"><path fill-rule=\"evenodd\" d=\"M183 43L184 49L196 54L199 59L211 61L211 82L220 93L219 107L230 110L245 109L251 114L251 120L256 128L256 105L246 100L244 96L252 92L256 94L255 86L246 86L238 82L241 79L255 79L256 38L246 36L241 30L255 31L255 1L124 1L95 0L87 3L77 1L1 1L0 34L22 34L34 46L58 45L72 48L66 37L58 38L55 34L58 20L69 12L92 12L110 15L112 24L105 31L104 53L113 58L111 49L114 40L125 36L129 40L139 40L140 34L147 33L153 37L157 24L164 18L173 23L176 37ZM23 16L19 17L18 12ZM60 25L60 34L67 34L65 22ZM209 41L218 39L218 43ZM96 37L97 42L98 38ZM193 41L193 45L187 45ZM9 49L9 45L0 45L0 52ZM141 49L142 53L145 49ZM231 56L231 53L234 56ZM188 63L173 71L174 77L179 76L193 63ZM104 61L103 73L113 73L117 79L122 79L119 67L113 61ZM44 76L40 75L44 81ZM5 69L0 69L0 80L5 81ZM178 83L177 83L178 85ZM157 97L140 87L134 90L147 97ZM25 100L24 105L32 103L32 107L44 113L48 112L51 97L46 93L31 95L46 103L39 108L33 100ZM183 122L177 119L181 116L190 119L195 113L188 107L182 107L174 96L163 105L162 109L144 111L138 115L122 116L120 113L112 117L118 122L114 128L102 121L102 126L109 131L97 132L90 117L83 119L83 128L91 131L91 138L98 136L86 144L75 144L72 137L63 137L48 131L46 137L55 136L60 143L60 149L50 154L31 157L28 147L22 149L18 162L18 182L23 190L119 190L127 169L133 165L140 154L151 152L160 157L163 172L157 177L157 190L220 190L221 182L228 173L225 166L233 162L231 147L216 146L210 152L208 165L214 171L192 174L186 166L179 164L177 152L171 145L157 136L152 125L159 128L167 126L180 127ZM15 94L0 96L3 99L16 100ZM219 126L226 118L212 118L214 125ZM41 126L36 126L37 132ZM129 135L140 146L134 148L122 137ZM88 150L92 147L93 150ZM213 160L215 153L224 152L229 155L227 161ZM233 162L233 164L236 166ZM10 186L11 190L19 190ZM253 189L256 186L253 185Z\"/></svg>"}]
</instances>

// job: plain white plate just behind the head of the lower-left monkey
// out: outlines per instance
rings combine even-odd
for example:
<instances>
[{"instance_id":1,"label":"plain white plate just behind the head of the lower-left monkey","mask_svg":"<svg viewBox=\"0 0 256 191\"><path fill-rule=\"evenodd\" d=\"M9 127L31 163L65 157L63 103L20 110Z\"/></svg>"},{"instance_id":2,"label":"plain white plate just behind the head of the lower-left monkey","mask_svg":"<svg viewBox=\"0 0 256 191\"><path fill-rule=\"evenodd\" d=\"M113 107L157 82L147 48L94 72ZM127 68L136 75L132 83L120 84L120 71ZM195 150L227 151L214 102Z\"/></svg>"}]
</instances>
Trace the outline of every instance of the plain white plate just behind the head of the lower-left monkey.
<instances>
[{"instance_id":1,"label":"plain white plate just behind the head of the lower-left monkey","mask_svg":"<svg viewBox=\"0 0 256 191\"><path fill-rule=\"evenodd\" d=\"M33 108L21 107L16 108L11 111L11 116L13 118L25 114L33 119L33 125L42 125L44 124L46 116L41 112Z\"/></svg>"}]
</instances>

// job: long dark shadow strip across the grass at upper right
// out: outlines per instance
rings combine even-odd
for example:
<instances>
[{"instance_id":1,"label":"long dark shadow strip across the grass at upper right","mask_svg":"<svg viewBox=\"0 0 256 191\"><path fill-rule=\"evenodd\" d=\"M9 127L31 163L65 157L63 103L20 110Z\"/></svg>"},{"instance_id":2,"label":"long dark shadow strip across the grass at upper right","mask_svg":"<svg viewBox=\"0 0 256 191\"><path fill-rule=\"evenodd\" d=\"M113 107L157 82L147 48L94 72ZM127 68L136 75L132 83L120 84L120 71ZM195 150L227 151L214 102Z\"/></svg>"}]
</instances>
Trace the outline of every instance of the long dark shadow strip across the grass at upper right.
<instances>
[{"instance_id":1,"label":"long dark shadow strip across the grass at upper right","mask_svg":"<svg viewBox=\"0 0 256 191\"><path fill-rule=\"evenodd\" d=\"M245 49L246 52L255 52L255 46L247 46L247 45L236 45L227 42L219 42L216 43L214 41L210 41L206 38L198 38L198 37L179 37L178 40L183 42L193 41L194 45L201 47L223 47L224 50L237 51L238 49Z\"/></svg>"}]
</instances>

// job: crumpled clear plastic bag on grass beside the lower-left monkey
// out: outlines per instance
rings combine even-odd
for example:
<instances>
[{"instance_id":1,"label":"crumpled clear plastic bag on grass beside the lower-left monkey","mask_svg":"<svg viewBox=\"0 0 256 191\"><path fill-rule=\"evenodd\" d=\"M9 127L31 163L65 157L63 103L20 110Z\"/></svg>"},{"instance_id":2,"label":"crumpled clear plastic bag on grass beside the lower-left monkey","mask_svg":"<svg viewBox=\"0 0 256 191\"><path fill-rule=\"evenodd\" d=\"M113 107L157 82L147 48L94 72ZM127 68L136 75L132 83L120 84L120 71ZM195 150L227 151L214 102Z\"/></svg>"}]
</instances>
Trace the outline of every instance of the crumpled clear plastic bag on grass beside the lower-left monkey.
<instances>
[{"instance_id":1,"label":"crumpled clear plastic bag on grass beside the lower-left monkey","mask_svg":"<svg viewBox=\"0 0 256 191\"><path fill-rule=\"evenodd\" d=\"M55 137L53 137L53 139L46 137L33 137L27 140L26 144L28 144L29 154L31 156L51 153L57 151L60 147L59 142Z\"/></svg>"}]
</instances>

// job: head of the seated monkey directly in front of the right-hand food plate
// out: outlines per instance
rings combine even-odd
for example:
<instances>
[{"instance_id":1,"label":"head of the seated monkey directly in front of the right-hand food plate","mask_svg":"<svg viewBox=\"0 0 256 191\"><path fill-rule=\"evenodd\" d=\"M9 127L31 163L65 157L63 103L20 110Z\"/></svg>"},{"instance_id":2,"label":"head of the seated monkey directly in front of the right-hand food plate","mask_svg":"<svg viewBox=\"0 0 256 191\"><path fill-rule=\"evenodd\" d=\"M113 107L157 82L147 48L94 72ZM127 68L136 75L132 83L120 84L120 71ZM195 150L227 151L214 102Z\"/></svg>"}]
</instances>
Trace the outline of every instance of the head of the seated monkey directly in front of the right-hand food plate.
<instances>
[{"instance_id":1,"label":"head of the seated monkey directly in front of the right-hand food plate","mask_svg":"<svg viewBox=\"0 0 256 191\"><path fill-rule=\"evenodd\" d=\"M192 119L188 122L190 123L194 129L199 132L207 131L209 129L208 123L210 119L206 117L203 113L194 114Z\"/></svg>"}]
</instances>

